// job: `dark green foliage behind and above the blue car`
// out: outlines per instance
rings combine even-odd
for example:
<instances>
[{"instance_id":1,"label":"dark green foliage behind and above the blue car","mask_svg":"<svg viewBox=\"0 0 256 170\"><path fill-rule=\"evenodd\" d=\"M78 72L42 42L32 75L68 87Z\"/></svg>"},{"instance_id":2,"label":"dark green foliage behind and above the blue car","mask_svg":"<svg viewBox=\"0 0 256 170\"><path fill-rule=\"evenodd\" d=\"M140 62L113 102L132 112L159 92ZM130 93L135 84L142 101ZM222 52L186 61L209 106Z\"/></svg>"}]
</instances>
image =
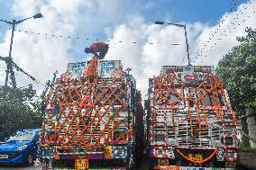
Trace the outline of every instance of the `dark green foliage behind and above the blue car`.
<instances>
[{"instance_id":1,"label":"dark green foliage behind and above the blue car","mask_svg":"<svg viewBox=\"0 0 256 170\"><path fill-rule=\"evenodd\" d=\"M0 86L0 138L15 130L40 127L41 109L35 96L32 86L16 89Z\"/></svg>"}]
</instances>

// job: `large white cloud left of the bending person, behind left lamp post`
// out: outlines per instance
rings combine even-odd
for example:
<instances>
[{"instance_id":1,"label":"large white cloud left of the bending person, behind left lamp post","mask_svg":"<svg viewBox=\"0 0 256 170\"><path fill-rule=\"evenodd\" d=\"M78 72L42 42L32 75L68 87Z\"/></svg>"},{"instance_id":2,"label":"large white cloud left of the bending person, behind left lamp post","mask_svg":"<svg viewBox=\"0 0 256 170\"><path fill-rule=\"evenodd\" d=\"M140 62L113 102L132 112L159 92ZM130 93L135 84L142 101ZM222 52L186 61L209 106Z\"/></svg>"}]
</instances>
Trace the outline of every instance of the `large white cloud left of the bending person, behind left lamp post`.
<instances>
[{"instance_id":1,"label":"large white cloud left of the bending person, behind left lamp post","mask_svg":"<svg viewBox=\"0 0 256 170\"><path fill-rule=\"evenodd\" d=\"M14 46L12 57L14 62L22 67L26 72L35 76L37 80L45 83L47 79L51 79L55 69L59 73L67 69L67 64L75 58L80 61L83 53L83 48L86 44L85 37L93 37L97 31L104 31L105 25L114 19L124 21L125 16L117 15L122 13L129 1L123 3L117 0L96 1L96 0L15 0L12 6L12 12L15 18L23 19L32 16L35 13L41 12L41 19L30 19L20 23L14 32ZM127 12L128 13L128 12ZM43 35L25 33L23 31L41 32ZM45 36L44 33L48 35ZM79 36L82 40L76 41L77 47L74 45L74 40L52 37L57 36ZM7 56L9 50L11 31L7 31L5 40L0 43L1 56ZM78 47L79 46L79 47ZM82 54L78 57L71 56L69 50L75 48L81 51ZM1 66L5 66L1 63ZM31 83L23 74L17 74L18 85L27 85ZM21 77L19 77L21 76ZM0 83L5 82L5 69L0 70Z\"/></svg>"}]
</instances>

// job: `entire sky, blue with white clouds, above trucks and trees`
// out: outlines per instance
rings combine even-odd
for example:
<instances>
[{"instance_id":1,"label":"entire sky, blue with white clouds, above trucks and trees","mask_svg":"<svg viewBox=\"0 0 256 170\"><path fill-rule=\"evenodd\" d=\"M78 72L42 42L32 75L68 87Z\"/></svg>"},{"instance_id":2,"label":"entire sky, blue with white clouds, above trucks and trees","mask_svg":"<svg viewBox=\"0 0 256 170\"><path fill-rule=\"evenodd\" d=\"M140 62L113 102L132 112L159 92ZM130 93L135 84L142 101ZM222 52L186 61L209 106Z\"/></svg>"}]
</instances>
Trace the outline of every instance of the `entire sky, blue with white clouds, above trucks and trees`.
<instances>
[{"instance_id":1,"label":"entire sky, blue with white clouds, above trucks and trees","mask_svg":"<svg viewBox=\"0 0 256 170\"><path fill-rule=\"evenodd\" d=\"M131 67L137 88L145 96L148 78L163 65L187 65L184 29L153 22L186 24L193 65L216 66L245 28L256 29L256 0L0 0L0 20L30 19L15 27L14 62L40 82L15 72L18 86L41 91L55 70L69 62L92 58L84 49L96 41L109 44L105 59L120 59ZM8 56L11 25L0 22L0 56ZM133 43L133 42L136 43ZM179 44L179 45L173 45ZM0 62L0 85L5 63Z\"/></svg>"}]
</instances>

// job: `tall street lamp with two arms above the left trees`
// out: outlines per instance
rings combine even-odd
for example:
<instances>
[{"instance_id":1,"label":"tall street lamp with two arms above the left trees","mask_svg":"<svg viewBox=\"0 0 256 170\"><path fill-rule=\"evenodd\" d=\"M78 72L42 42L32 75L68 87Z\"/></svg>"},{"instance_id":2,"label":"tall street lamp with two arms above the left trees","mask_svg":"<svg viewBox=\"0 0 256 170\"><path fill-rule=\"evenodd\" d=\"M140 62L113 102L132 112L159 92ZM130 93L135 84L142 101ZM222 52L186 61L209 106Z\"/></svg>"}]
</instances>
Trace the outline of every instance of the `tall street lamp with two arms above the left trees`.
<instances>
[{"instance_id":1,"label":"tall street lamp with two arms above the left trees","mask_svg":"<svg viewBox=\"0 0 256 170\"><path fill-rule=\"evenodd\" d=\"M28 20L28 19L31 19L31 18L37 19L37 18L41 18L41 17L42 17L41 13L36 13L33 16L25 18L25 19L20 20L20 21L13 20L12 22L9 22L9 21L5 21L5 20L0 20L0 22L6 22L6 23L12 25L12 37L11 37L11 43L10 43L9 56L7 58L5 58L6 62L7 62L7 69L6 69L6 76L5 76L5 87L7 87L8 76L9 76L9 73L10 73L11 74L11 79L12 79L12 82L13 82L13 86L14 86L14 88L16 88L14 70L13 70L13 66L12 66L12 48L13 48L13 41L14 41L15 24L21 23L21 22L23 22L25 20Z\"/></svg>"}]
</instances>

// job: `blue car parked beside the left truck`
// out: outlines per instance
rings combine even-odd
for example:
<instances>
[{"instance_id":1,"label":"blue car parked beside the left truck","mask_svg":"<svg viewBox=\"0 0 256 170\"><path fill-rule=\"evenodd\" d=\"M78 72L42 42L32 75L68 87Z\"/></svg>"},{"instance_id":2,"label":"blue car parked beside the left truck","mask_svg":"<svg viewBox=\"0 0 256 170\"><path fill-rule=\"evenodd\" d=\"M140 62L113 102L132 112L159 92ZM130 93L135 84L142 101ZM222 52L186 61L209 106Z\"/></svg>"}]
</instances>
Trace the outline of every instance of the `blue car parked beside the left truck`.
<instances>
[{"instance_id":1,"label":"blue car parked beside the left truck","mask_svg":"<svg viewBox=\"0 0 256 170\"><path fill-rule=\"evenodd\" d=\"M32 165L40 146L41 130L18 130L0 142L0 164Z\"/></svg>"}]
</instances>

